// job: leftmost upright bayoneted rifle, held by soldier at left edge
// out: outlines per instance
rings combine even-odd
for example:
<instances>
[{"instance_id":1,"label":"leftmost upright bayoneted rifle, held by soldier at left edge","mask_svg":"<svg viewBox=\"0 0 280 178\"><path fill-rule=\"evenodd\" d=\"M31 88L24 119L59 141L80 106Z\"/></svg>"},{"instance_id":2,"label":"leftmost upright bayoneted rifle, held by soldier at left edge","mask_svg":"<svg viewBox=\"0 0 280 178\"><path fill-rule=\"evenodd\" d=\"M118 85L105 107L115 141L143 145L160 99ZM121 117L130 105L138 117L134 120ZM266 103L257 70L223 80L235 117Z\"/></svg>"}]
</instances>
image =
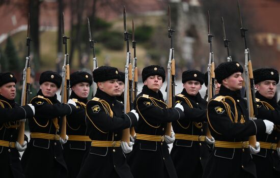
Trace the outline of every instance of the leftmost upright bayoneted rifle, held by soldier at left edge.
<instances>
[{"instance_id":1,"label":"leftmost upright bayoneted rifle, held by soldier at left edge","mask_svg":"<svg viewBox=\"0 0 280 178\"><path fill-rule=\"evenodd\" d=\"M24 106L29 103L29 97L30 97L30 74L31 74L31 68L30 68L30 42L32 41L31 38L29 38L29 29L30 29L30 14L28 14L28 24L27 24L27 38L26 38L26 46L27 46L27 56L25 57L25 67L23 69L22 73L22 93L21 93L21 106ZM19 144L23 144L24 141L24 124L25 122L20 122L18 136L17 136L17 142Z\"/></svg>"}]
</instances>

